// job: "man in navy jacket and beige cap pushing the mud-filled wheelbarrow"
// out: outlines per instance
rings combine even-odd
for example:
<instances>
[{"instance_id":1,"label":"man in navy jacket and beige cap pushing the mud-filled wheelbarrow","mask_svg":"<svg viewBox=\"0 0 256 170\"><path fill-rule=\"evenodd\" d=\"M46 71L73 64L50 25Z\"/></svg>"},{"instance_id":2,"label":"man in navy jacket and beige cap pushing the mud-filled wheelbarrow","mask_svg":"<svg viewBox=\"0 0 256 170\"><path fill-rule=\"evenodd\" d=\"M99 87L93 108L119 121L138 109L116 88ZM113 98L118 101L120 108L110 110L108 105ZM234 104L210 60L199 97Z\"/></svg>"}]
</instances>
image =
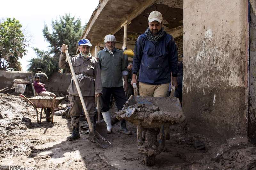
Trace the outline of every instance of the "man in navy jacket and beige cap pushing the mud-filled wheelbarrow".
<instances>
[{"instance_id":1,"label":"man in navy jacket and beige cap pushing the mud-filled wheelbarrow","mask_svg":"<svg viewBox=\"0 0 256 170\"><path fill-rule=\"evenodd\" d=\"M166 97L169 83L177 85L177 48L172 35L162 27L163 17L158 11L148 16L148 29L135 44L131 84L137 83L141 96Z\"/></svg>"}]
</instances>

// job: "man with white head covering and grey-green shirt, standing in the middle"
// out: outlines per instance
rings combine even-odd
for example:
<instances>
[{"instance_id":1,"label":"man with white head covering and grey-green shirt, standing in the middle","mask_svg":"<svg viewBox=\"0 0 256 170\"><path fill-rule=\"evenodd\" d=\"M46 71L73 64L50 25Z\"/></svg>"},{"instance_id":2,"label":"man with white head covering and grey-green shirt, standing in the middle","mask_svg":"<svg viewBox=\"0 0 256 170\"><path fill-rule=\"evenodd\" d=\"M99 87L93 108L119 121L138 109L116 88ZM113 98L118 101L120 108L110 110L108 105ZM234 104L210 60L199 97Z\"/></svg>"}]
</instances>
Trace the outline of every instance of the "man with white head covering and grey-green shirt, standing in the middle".
<instances>
[{"instance_id":1,"label":"man with white head covering and grey-green shirt, standing in the middle","mask_svg":"<svg viewBox=\"0 0 256 170\"><path fill-rule=\"evenodd\" d=\"M123 52L115 47L116 37L114 35L106 35L105 48L98 53L101 68L101 80L103 94L100 97L101 112L104 121L107 124L108 133L112 131L109 102L110 95L114 96L118 110L121 110L126 102L124 91L127 90L127 60L124 59ZM122 76L124 78L124 85ZM131 135L132 132L126 128L126 121L121 120L120 131L124 134Z\"/></svg>"}]
</instances>

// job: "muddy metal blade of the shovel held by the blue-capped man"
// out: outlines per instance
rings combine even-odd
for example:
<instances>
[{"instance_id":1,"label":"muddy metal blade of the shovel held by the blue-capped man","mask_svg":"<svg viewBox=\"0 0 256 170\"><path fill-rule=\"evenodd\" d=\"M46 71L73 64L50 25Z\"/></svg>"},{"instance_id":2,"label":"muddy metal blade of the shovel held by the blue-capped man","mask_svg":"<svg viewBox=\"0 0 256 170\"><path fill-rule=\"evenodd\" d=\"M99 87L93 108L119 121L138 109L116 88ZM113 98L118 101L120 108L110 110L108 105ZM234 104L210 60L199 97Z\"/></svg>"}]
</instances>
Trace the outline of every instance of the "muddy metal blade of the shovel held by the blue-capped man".
<instances>
[{"instance_id":1,"label":"muddy metal blade of the shovel held by the blue-capped man","mask_svg":"<svg viewBox=\"0 0 256 170\"><path fill-rule=\"evenodd\" d=\"M111 145L109 141L107 141L103 136L101 136L96 130L90 131L88 139L92 142L95 142L97 145L102 147L103 149L106 149L108 146Z\"/></svg>"}]
</instances>

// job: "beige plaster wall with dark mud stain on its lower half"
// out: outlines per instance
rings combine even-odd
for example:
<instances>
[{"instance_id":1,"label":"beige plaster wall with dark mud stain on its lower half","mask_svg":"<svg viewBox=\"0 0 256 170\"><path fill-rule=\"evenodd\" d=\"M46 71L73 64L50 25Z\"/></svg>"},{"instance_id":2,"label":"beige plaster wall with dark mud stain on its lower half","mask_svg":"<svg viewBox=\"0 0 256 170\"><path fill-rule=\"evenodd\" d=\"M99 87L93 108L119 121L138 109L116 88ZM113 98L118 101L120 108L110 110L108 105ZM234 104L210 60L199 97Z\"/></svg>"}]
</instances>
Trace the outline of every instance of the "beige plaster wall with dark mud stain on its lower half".
<instances>
[{"instance_id":1,"label":"beige plaster wall with dark mud stain on its lower half","mask_svg":"<svg viewBox=\"0 0 256 170\"><path fill-rule=\"evenodd\" d=\"M188 128L247 133L246 1L184 1L183 109ZM248 92L247 92L248 94Z\"/></svg>"}]
</instances>

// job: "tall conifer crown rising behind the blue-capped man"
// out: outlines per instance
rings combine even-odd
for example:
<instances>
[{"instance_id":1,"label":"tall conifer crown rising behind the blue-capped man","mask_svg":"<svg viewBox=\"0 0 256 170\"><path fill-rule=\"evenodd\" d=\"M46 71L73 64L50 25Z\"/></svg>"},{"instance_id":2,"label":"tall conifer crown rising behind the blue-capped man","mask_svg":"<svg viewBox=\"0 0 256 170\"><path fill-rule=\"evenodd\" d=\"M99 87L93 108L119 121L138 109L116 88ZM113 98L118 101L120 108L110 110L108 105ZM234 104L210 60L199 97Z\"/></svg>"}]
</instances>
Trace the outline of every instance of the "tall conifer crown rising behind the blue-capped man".
<instances>
[{"instance_id":1,"label":"tall conifer crown rising behind the blue-capped man","mask_svg":"<svg viewBox=\"0 0 256 170\"><path fill-rule=\"evenodd\" d=\"M59 57L62 44L68 45L70 55L76 55L76 47L84 30L80 18L71 17L70 14L60 16L52 20L52 33L45 24L43 29L44 38L50 43L50 53L53 57Z\"/></svg>"}]
</instances>

